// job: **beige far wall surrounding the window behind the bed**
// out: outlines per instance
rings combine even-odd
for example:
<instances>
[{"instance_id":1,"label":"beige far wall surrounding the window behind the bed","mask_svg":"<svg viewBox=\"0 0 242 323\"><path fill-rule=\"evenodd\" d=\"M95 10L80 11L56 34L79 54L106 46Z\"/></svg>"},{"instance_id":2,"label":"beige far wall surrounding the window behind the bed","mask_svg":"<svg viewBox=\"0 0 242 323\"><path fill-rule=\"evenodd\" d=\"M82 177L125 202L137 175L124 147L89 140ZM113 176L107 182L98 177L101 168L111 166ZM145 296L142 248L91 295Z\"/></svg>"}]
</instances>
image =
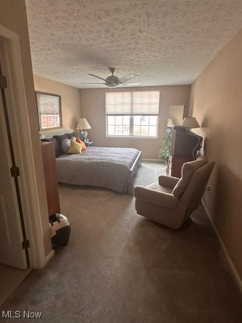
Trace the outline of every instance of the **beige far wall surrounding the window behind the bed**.
<instances>
[{"instance_id":1,"label":"beige far wall surrounding the window behind the bed","mask_svg":"<svg viewBox=\"0 0 242 323\"><path fill-rule=\"evenodd\" d=\"M129 91L134 88L115 89L113 91ZM158 139L105 138L105 92L107 89L81 89L82 117L92 127L88 130L89 140L102 147L134 147L142 150L144 158L157 159L161 136L166 132L169 105L186 105L190 96L190 85L139 87L135 90L160 90Z\"/></svg>"}]
</instances>

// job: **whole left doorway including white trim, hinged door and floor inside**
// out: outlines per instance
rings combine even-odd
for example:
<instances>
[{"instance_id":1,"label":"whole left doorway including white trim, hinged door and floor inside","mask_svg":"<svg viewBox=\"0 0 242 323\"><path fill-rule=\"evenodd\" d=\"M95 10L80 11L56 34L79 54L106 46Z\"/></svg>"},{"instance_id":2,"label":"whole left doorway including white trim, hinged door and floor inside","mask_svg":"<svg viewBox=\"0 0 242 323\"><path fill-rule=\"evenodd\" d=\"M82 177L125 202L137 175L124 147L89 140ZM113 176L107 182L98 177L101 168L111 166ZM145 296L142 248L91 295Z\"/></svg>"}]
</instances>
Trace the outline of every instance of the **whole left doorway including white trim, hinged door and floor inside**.
<instances>
[{"instance_id":1,"label":"whole left doorway including white trim, hinged door and floor inside","mask_svg":"<svg viewBox=\"0 0 242 323\"><path fill-rule=\"evenodd\" d=\"M42 213L19 36L2 25L0 25L0 54L2 74L7 79L7 84L5 78L0 79L0 263L4 263L0 264L0 303L2 303L28 275L31 267L43 268L54 255L54 251L48 250L45 253L44 249ZM34 88L32 90L34 93ZM7 119L3 92L6 95ZM9 140L8 129L12 141ZM11 151L14 151L15 163ZM19 190L16 189L16 179ZM19 201L22 206L22 220ZM23 232L23 222L26 236ZM51 245L50 237L49 244ZM29 267L26 247L28 247Z\"/></svg>"}]
</instances>

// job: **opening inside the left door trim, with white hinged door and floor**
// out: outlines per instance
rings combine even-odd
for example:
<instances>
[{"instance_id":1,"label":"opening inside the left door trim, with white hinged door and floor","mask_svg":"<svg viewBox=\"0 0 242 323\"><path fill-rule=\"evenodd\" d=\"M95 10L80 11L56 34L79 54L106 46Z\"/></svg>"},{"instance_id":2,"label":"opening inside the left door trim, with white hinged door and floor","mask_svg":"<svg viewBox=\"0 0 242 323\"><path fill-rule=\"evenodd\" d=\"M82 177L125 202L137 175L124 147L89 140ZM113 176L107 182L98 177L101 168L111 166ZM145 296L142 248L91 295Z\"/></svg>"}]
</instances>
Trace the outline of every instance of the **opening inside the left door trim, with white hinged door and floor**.
<instances>
[{"instance_id":1,"label":"opening inside the left door trim, with white hinged door and floor","mask_svg":"<svg viewBox=\"0 0 242 323\"><path fill-rule=\"evenodd\" d=\"M11 122L8 115L6 57L0 43L0 304L29 274L29 256L18 183ZM7 72L7 71L6 71Z\"/></svg>"}]
</instances>

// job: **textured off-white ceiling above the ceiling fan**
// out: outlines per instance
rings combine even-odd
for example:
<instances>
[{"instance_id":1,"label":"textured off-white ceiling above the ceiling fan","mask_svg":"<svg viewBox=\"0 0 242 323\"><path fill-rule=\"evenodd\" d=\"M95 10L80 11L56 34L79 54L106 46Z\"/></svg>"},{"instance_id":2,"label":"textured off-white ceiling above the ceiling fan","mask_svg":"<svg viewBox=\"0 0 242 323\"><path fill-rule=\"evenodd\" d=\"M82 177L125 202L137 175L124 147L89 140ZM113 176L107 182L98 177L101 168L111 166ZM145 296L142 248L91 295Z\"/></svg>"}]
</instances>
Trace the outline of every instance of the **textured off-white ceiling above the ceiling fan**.
<instances>
[{"instance_id":1,"label":"textured off-white ceiling above the ceiling fan","mask_svg":"<svg viewBox=\"0 0 242 323\"><path fill-rule=\"evenodd\" d=\"M242 27L242 0L26 0L33 71L78 88L87 75L191 84ZM99 87L105 87L100 85Z\"/></svg>"}]
</instances>

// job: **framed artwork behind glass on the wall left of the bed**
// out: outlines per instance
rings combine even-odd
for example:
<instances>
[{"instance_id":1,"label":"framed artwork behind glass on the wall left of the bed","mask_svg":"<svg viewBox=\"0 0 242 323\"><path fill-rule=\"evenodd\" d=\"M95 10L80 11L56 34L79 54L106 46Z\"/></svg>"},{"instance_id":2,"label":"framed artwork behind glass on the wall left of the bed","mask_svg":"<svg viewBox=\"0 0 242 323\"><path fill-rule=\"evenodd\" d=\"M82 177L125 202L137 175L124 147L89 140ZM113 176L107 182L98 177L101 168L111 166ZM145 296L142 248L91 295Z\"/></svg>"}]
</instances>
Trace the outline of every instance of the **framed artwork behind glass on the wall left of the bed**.
<instances>
[{"instance_id":1,"label":"framed artwork behind glass on the wall left of the bed","mask_svg":"<svg viewBox=\"0 0 242 323\"><path fill-rule=\"evenodd\" d=\"M35 91L39 130L62 128L61 95Z\"/></svg>"}]
</instances>

